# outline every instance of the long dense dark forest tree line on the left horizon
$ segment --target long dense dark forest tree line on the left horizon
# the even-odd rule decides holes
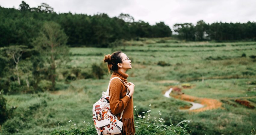
[[[30,7],[22,1],[19,9],[0,7],[0,46],[29,45],[38,36],[45,21],[58,23],[68,36],[70,46],[108,47],[116,40],[139,37],[169,37],[172,34],[164,22],[150,25],[142,20],[121,13],[109,17],[106,13],[93,16],[86,14],[59,13],[46,3]]]

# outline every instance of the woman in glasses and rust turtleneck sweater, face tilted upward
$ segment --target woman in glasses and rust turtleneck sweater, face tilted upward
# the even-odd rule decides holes
[[[105,55],[104,62],[108,63],[108,73],[112,73],[111,78],[115,78],[110,82],[109,95],[110,95],[110,110],[114,115],[120,119],[121,112],[123,111],[122,122],[123,128],[120,135],[133,135],[135,133],[133,122],[133,92],[134,84],[132,82],[127,83],[126,70],[131,69],[131,60],[121,51],[116,51],[111,55]],[[126,95],[127,88],[129,94]]]

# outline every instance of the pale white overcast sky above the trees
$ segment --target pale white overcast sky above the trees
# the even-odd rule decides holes
[[[163,21],[173,27],[175,23],[204,20],[213,22],[256,22],[256,0],[24,0],[30,7],[42,2],[57,13],[107,13],[118,16],[130,14],[135,21],[143,20],[154,25]],[[2,7],[15,7],[21,0],[1,0]]]

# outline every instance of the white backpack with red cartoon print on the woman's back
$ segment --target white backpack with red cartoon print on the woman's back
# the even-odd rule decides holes
[[[113,77],[112,79],[114,78],[120,79],[119,77]],[[110,110],[109,99],[111,97],[109,96],[109,86],[111,80],[109,81],[107,91],[102,92],[102,97],[95,104],[93,104],[92,107],[92,119],[98,135],[120,134],[123,128],[123,122],[121,122],[121,120],[124,110],[121,113],[120,121]],[[123,80],[121,81],[123,82]],[[127,94],[128,89],[126,95]]]

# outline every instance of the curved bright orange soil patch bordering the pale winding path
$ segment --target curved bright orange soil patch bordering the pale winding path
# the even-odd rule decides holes
[[[206,110],[212,110],[212,109],[217,109],[221,107],[221,102],[216,100],[216,99],[211,99],[211,98],[198,98],[190,95],[172,95],[174,98],[182,99],[185,101],[199,101],[200,104],[203,104],[205,107],[196,109],[196,110],[190,110],[191,112],[202,112]]]

